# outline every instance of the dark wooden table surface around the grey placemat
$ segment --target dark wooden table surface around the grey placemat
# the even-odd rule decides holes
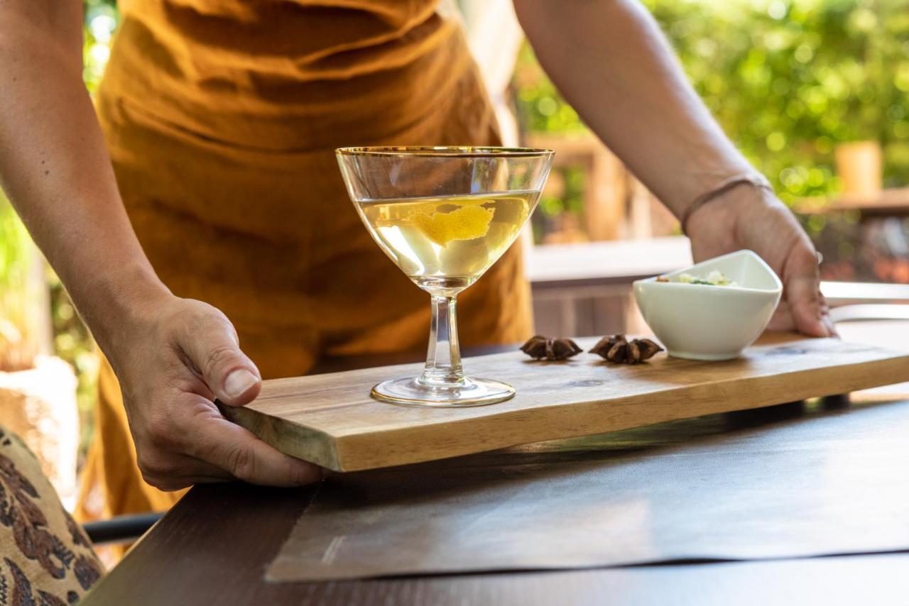
[[[892,326],[888,324],[888,327]],[[870,326],[869,326],[870,327]],[[902,339],[909,327],[888,328]],[[872,334],[867,330],[850,332]],[[902,335],[902,336],[900,336]],[[331,368],[331,364],[325,366]],[[842,405],[842,402],[833,402]],[[703,417],[681,432],[734,432],[784,422],[801,404]],[[664,432],[672,433],[672,432]],[[678,433],[678,432],[676,432]],[[673,439],[684,439],[684,435]],[[664,438],[665,439],[665,438]],[[676,562],[582,571],[524,571],[275,583],[265,568],[312,489],[196,486],[82,602],[144,604],[904,604],[909,552],[748,562]],[[554,529],[557,531],[557,529]],[[835,529],[832,529],[835,531]]]

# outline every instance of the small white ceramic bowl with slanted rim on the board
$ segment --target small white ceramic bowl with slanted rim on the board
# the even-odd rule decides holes
[[[669,355],[691,360],[729,360],[764,331],[774,314],[783,283],[767,263],[751,251],[724,254],[680,273],[705,277],[719,270],[737,286],[657,282],[634,283],[634,299],[644,320]]]

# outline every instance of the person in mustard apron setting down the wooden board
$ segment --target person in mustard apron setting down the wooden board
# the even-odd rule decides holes
[[[831,334],[812,243],[644,8],[514,6],[565,98],[684,218],[694,258],[753,249],[784,281],[774,327]],[[121,7],[93,108],[81,3],[0,4],[2,184],[109,361],[82,513],[164,509],[167,491],[196,482],[315,482],[321,470],[225,421],[213,401],[250,402],[263,377],[305,373],[320,356],[425,343],[423,293],[370,241],[333,152],[499,143],[454,10],[440,0]],[[460,306],[465,344],[528,337],[519,247]],[[93,510],[99,494],[107,504]]]

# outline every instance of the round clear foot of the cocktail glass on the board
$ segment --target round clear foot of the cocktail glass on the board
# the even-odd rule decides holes
[[[469,379],[452,386],[427,385],[416,378],[392,379],[373,388],[382,402],[429,408],[464,408],[504,402],[514,396],[514,387],[491,379]]]

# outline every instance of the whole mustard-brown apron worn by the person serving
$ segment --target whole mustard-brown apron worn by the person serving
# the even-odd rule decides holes
[[[345,193],[346,145],[499,144],[457,20],[437,0],[121,0],[97,110],[126,211],[178,296],[234,323],[264,378],[322,355],[422,351],[429,300]],[[514,245],[460,297],[464,345],[532,330]],[[82,520],[165,510],[103,364]]]

